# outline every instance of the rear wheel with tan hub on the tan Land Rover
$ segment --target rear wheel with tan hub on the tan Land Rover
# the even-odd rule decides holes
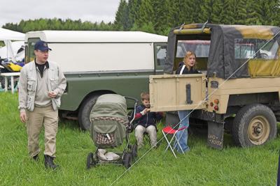
[[[276,137],[276,118],[269,107],[251,104],[243,107],[232,125],[232,137],[241,147],[265,144]]]

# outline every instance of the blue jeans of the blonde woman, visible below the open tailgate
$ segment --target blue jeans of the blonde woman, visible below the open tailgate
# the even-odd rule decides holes
[[[188,125],[189,125],[189,118],[190,118],[190,110],[184,110],[184,111],[178,111],[178,115],[180,118],[180,125],[179,128],[181,127],[187,127],[185,130],[181,130],[177,132],[176,137],[177,139],[180,138],[179,144],[181,148],[183,149],[183,152],[186,152],[190,150],[188,147]],[[174,148],[179,152],[183,153],[179,145],[175,142]]]

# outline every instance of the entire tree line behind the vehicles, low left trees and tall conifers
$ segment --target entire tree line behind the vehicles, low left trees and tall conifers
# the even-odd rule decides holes
[[[38,19],[3,28],[38,30],[147,31],[167,35],[183,23],[280,25],[280,0],[120,0],[113,23]]]

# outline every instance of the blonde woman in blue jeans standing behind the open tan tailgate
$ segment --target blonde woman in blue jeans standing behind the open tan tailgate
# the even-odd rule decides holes
[[[184,58],[183,63],[179,65],[179,68],[176,70],[176,75],[186,75],[186,74],[198,74],[198,72],[195,69],[195,61],[196,56],[194,52],[188,51],[186,52],[186,56]],[[178,144],[174,144],[174,148],[179,153],[185,153],[186,151],[190,150],[188,147],[188,126],[189,126],[189,118],[190,118],[190,110],[182,110],[178,111],[178,115],[180,118],[180,125],[181,127],[186,127],[185,130],[181,130],[176,134],[177,139],[179,139],[179,144],[181,148],[183,149],[183,152],[181,148],[178,146]]]

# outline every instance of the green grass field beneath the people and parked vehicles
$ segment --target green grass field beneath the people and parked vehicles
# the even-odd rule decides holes
[[[27,155],[25,124],[20,123],[18,95],[0,93],[0,185],[275,185],[280,146],[280,125],[274,141],[255,148],[237,148],[229,134],[225,148],[207,147],[204,133],[190,135],[190,152],[175,159],[166,146],[147,152],[125,172],[124,166],[104,165],[85,169],[87,153],[94,152],[89,132],[74,122],[59,123],[57,133],[57,171],[45,170],[42,148],[39,162]],[[160,125],[159,127],[162,127]],[[162,137],[158,132],[158,139]],[[134,141],[134,133],[132,134]]]

